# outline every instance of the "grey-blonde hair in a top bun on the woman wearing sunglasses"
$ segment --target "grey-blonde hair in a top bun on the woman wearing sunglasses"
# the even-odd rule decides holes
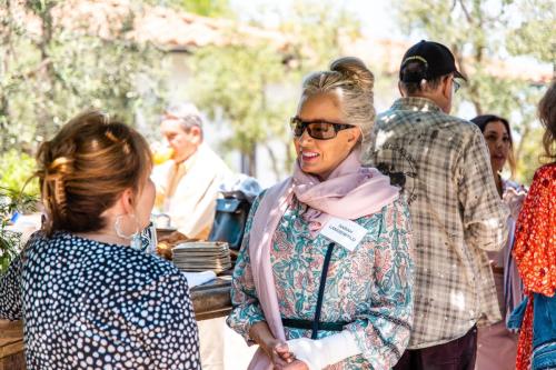
[[[374,84],[375,76],[360,59],[345,57],[332,61],[330,70],[307,76],[301,97],[334,94],[346,117],[344,123],[357,126],[366,141],[375,121]]]

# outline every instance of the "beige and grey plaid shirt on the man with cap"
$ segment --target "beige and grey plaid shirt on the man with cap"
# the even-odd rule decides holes
[[[463,337],[502,319],[485,251],[504,247],[507,207],[483,133],[433,101],[403,98],[377,118],[364,162],[404,189],[415,240],[410,349]]]

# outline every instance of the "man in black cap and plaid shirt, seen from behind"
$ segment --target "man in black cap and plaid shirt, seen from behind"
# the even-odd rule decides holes
[[[445,46],[420,41],[399,70],[403,98],[377,117],[364,161],[409,204],[416,264],[414,324],[394,368],[473,370],[476,326],[500,320],[486,251],[503,248],[507,207],[473,123],[449,116],[458,79]]]

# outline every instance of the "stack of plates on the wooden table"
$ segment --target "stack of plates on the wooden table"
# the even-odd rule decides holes
[[[172,250],[173,263],[181,271],[207,271],[220,273],[231,269],[230,250],[227,242],[188,241]]]

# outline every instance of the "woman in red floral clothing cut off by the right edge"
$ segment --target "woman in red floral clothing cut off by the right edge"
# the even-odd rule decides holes
[[[535,172],[517,220],[514,257],[528,298],[517,349],[518,370],[556,369],[556,82],[540,100],[538,112],[550,163]]]

